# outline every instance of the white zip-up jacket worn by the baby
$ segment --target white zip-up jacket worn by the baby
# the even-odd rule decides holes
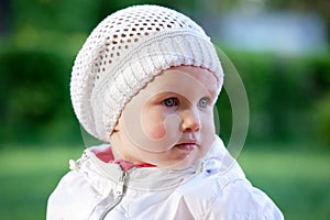
[[[103,147],[103,146],[97,146]],[[91,150],[75,162],[47,205],[47,220],[280,220],[282,212],[245,178],[217,138],[211,151],[184,170],[123,172]]]

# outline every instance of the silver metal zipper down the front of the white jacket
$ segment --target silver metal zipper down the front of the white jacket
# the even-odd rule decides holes
[[[114,207],[117,207],[121,202],[121,200],[122,200],[122,198],[123,198],[123,196],[125,194],[129,174],[133,169],[135,169],[135,168],[133,167],[129,172],[122,172],[122,175],[119,177],[117,186],[116,186],[116,189],[114,189],[116,199],[114,199],[114,201],[111,205],[109,205],[109,206],[106,207],[105,211],[100,216],[100,220],[105,220],[105,218],[108,216],[108,213],[111,210],[113,210]]]

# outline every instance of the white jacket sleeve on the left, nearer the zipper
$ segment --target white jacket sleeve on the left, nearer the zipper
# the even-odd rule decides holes
[[[47,202],[47,220],[89,219],[98,200],[82,174],[72,170],[59,182]]]

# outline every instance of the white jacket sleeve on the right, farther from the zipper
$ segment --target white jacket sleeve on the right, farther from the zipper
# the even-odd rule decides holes
[[[230,182],[209,207],[208,220],[283,220],[284,217],[266,194],[248,179]]]

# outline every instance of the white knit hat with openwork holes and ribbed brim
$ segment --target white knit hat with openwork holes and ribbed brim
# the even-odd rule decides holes
[[[130,7],[106,18],[78,53],[70,96],[86,131],[109,142],[130,99],[162,70],[191,65],[223,73],[204,30],[189,18],[158,6]]]

